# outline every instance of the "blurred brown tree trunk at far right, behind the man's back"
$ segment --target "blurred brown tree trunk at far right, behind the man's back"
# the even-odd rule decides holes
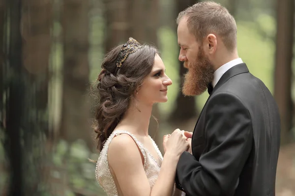
[[[281,116],[281,143],[290,142],[292,128],[291,81],[294,37],[294,0],[277,0],[274,98]]]

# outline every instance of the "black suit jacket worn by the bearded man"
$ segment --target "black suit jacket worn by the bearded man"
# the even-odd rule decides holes
[[[177,164],[187,196],[274,196],[280,117],[265,84],[238,64],[222,75],[199,116],[192,152]]]

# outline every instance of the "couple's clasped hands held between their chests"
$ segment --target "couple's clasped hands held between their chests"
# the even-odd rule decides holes
[[[183,151],[187,151],[192,154],[192,132],[176,129],[172,134],[163,136],[164,152],[167,150],[176,151],[182,154]]]

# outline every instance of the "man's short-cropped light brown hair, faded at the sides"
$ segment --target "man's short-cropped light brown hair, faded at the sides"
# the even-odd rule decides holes
[[[198,42],[202,43],[208,34],[213,33],[221,37],[229,51],[236,49],[236,21],[225,7],[216,2],[203,1],[181,11],[177,25],[183,17]]]

